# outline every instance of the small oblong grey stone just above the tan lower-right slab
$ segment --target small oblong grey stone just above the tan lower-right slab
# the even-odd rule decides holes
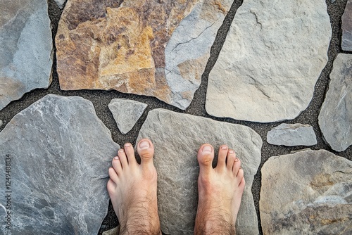
[[[267,141],[269,144],[284,146],[312,146],[317,144],[313,127],[300,123],[282,123],[268,132]]]

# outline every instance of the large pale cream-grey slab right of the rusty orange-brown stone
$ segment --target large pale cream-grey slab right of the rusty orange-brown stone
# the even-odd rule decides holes
[[[296,118],[327,63],[325,0],[244,0],[210,71],[210,115],[252,122]]]

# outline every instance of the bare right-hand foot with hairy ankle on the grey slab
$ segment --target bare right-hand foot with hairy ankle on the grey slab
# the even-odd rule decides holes
[[[236,153],[220,146],[213,168],[214,149],[203,144],[198,151],[199,201],[194,234],[235,234],[234,224],[244,191],[244,172]]]

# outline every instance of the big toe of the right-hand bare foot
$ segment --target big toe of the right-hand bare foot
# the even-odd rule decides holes
[[[210,144],[203,144],[197,155],[200,174],[210,174],[213,170],[214,148]]]

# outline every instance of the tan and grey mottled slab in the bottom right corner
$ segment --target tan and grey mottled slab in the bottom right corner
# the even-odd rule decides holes
[[[325,150],[269,158],[262,170],[263,234],[351,234],[352,162]]]

